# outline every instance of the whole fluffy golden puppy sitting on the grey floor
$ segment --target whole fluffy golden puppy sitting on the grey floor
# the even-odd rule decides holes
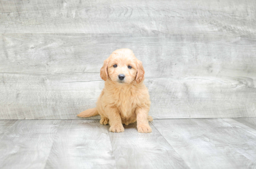
[[[137,121],[139,133],[152,132],[148,122],[150,98],[143,84],[144,68],[130,49],[115,50],[100,70],[105,87],[98,98],[96,108],[81,112],[79,117],[100,115],[101,124],[110,124],[110,132],[124,132],[123,124]],[[122,124],[123,123],[123,124]]]

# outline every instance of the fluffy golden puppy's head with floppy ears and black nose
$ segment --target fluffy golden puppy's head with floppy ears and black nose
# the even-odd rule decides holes
[[[144,80],[144,68],[130,49],[115,50],[104,61],[100,71],[101,78],[108,78],[119,85],[140,83]]]

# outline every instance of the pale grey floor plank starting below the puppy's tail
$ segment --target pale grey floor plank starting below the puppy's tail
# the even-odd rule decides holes
[[[45,168],[116,168],[107,127],[99,120],[62,120]]]

